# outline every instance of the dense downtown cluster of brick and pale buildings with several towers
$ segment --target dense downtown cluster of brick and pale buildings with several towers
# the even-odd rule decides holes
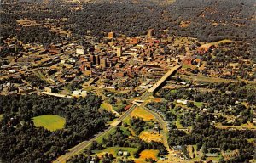
[[[152,86],[152,79],[162,76],[177,58],[162,55],[162,44],[169,38],[155,39],[154,30],[149,30],[143,37],[115,37],[113,32],[102,42],[95,42],[95,37],[85,37],[90,44],[81,42],[62,42],[44,48],[39,44],[23,44],[17,39],[6,41],[9,47],[19,51],[11,58],[9,65],[1,66],[2,79],[17,78],[22,82],[9,87],[24,86],[20,89],[6,89],[3,93],[26,93],[32,90],[53,92],[68,83],[79,83],[83,87],[105,87],[114,90],[133,90]],[[169,40],[169,41],[168,41]],[[47,84],[31,87],[27,77],[37,76]],[[26,84],[25,84],[26,83]],[[26,87],[25,87],[26,85]],[[1,88],[7,87],[1,85]],[[27,88],[27,89],[26,89]]]

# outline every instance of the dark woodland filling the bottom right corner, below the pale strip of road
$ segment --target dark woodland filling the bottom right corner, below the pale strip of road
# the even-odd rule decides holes
[[[198,149],[202,148],[203,154],[238,149],[240,155],[227,162],[247,162],[253,159],[254,154],[253,143],[248,143],[247,138],[254,138],[253,131],[222,130],[211,126],[206,121],[201,121],[193,126],[189,134],[171,130],[168,142],[170,145],[182,146],[196,144]]]

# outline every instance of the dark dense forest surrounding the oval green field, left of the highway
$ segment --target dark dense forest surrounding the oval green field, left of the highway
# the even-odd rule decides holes
[[[113,115],[98,109],[101,98],[53,98],[38,95],[0,96],[0,158],[7,162],[50,162],[67,149],[102,131]],[[38,115],[60,115],[65,128],[50,132],[35,127]]]

